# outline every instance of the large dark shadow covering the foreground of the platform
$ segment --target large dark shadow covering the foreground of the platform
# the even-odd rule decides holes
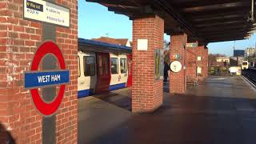
[[[175,144],[241,144],[256,138],[256,100],[247,98],[166,96],[161,109],[152,114],[128,114],[110,129],[102,130],[85,122],[86,134],[102,130],[84,143],[175,143]],[[122,118],[101,117],[105,124]],[[91,138],[91,137],[90,137]]]

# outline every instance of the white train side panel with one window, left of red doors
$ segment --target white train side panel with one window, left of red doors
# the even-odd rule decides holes
[[[78,53],[78,98],[94,94],[96,75],[96,55],[94,53]]]

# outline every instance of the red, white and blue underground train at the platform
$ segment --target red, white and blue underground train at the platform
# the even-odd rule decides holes
[[[78,98],[131,86],[131,48],[78,39]]]

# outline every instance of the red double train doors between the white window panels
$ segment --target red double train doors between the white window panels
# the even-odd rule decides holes
[[[97,86],[96,93],[109,91],[110,87],[110,54],[97,53]]]

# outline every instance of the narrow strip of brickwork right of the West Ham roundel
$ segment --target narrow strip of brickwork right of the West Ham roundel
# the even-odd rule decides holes
[[[70,8],[70,29],[57,27],[57,43],[62,47],[66,68],[70,70],[70,85],[57,113],[57,143],[77,143],[78,137],[78,1],[57,0]]]

